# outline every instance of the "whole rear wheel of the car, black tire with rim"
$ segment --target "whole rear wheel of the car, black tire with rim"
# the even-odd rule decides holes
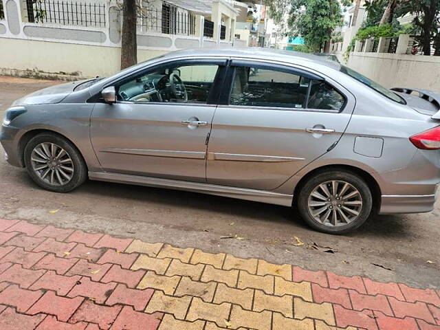
[[[329,170],[311,177],[300,188],[296,201],[304,221],[328,234],[359,228],[369,219],[373,206],[366,181],[346,170]]]

